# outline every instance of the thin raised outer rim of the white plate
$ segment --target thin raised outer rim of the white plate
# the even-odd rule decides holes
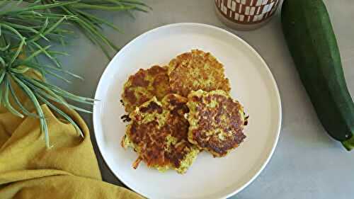
[[[154,33],[160,29],[164,29],[164,28],[176,28],[178,26],[196,26],[196,27],[201,27],[201,28],[210,28],[210,29],[214,29],[214,30],[217,30],[217,31],[221,31],[223,33],[226,33],[227,35],[230,35],[232,36],[234,39],[236,40],[239,40],[242,44],[244,44],[246,47],[249,48],[249,50],[251,50],[251,52],[253,52],[254,55],[256,55],[256,57],[258,57],[258,59],[261,60],[261,62],[265,65],[265,71],[267,72],[268,76],[270,76],[270,81],[271,83],[273,84],[273,88],[275,89],[275,98],[276,98],[276,105],[277,105],[277,108],[278,108],[278,115],[279,115],[279,118],[278,118],[278,123],[277,123],[277,132],[276,132],[276,137],[275,137],[275,142],[273,142],[273,146],[272,146],[272,149],[270,151],[270,153],[268,154],[268,157],[267,159],[263,162],[261,168],[256,172],[256,174],[247,182],[247,183],[244,183],[243,186],[241,186],[240,188],[236,188],[235,191],[233,191],[232,193],[226,193],[225,195],[222,196],[222,198],[229,198],[229,197],[232,197],[233,195],[236,195],[237,193],[239,193],[240,191],[244,190],[244,188],[246,188],[247,186],[249,186],[258,176],[259,174],[261,174],[261,172],[265,169],[265,166],[268,165],[270,159],[273,157],[273,154],[275,152],[275,148],[277,147],[278,145],[278,141],[279,141],[279,137],[280,137],[280,131],[281,131],[281,126],[282,126],[282,101],[281,101],[281,98],[280,98],[280,92],[279,92],[279,88],[278,88],[278,84],[277,82],[275,81],[275,78],[273,76],[273,73],[270,71],[270,68],[268,67],[268,64],[265,62],[265,60],[263,59],[263,57],[261,57],[261,55],[259,55],[259,53],[251,46],[249,45],[248,42],[246,42],[245,40],[243,40],[242,38],[240,38],[238,35],[235,35],[234,33],[231,33],[229,30],[225,30],[223,28],[219,28],[215,25],[209,25],[209,24],[205,24],[205,23],[170,23],[170,24],[167,24],[167,25],[161,25],[159,27],[156,27],[156,28],[152,28],[151,30],[147,30],[146,32],[138,35],[136,38],[130,40],[130,42],[127,42],[126,45],[124,45],[120,51],[118,51],[114,57],[110,60],[110,62],[107,64],[107,67],[105,67],[105,69],[103,70],[103,73],[101,74],[101,77],[98,81],[98,84],[96,86],[96,91],[95,91],[95,97],[94,98],[97,98],[99,93],[101,93],[102,91],[102,85],[103,84],[102,82],[102,79],[103,79],[103,76],[106,75],[106,73],[108,73],[108,68],[110,67],[111,63],[113,62],[114,59],[116,59],[116,57],[118,57],[121,53],[123,53],[123,50],[126,48],[126,47],[129,47],[130,45],[132,45],[133,42],[135,42],[136,40],[139,40],[141,38],[144,38],[145,35],[149,35],[151,33]],[[106,161],[106,158],[105,155],[103,154],[102,152],[102,149],[101,149],[101,144],[98,143],[97,141],[97,135],[96,135],[96,131],[98,132],[98,110],[99,110],[99,107],[101,106],[98,106],[96,103],[93,104],[93,113],[92,113],[92,122],[93,122],[93,135],[95,137],[95,141],[96,141],[96,144],[97,144],[97,147],[98,147],[98,152],[101,154],[101,157],[103,159],[103,162],[104,164],[108,167],[109,171],[115,176],[115,178],[118,178],[118,180],[124,185],[126,186],[127,188],[130,189],[130,191],[134,191],[136,193],[138,193],[139,195],[143,195],[144,197],[147,197],[146,195],[144,195],[143,193],[141,193],[139,190],[135,190],[133,188],[131,188],[127,183],[125,183],[125,181],[123,181],[121,178],[119,178],[119,175],[118,174],[115,174],[115,172],[110,169],[110,166],[108,165],[107,161]],[[103,132],[101,132],[103,133]]]

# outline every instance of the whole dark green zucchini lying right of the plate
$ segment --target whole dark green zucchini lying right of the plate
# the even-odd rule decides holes
[[[324,2],[285,0],[282,30],[302,84],[326,131],[354,149],[354,103]]]

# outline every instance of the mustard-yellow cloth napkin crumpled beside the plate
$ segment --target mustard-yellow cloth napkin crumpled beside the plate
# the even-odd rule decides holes
[[[30,107],[28,98],[18,93],[25,106]],[[0,107],[1,199],[142,198],[101,181],[89,129],[79,114],[64,109],[81,127],[84,138],[50,108],[42,108],[50,131],[50,149],[45,147],[38,119],[18,118]]]

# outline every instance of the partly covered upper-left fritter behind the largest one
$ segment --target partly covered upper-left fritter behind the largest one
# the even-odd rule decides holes
[[[167,93],[170,93],[170,87],[166,67],[154,66],[149,69],[139,69],[125,82],[122,103],[125,111],[131,113],[137,106],[149,101],[153,96],[161,100]]]

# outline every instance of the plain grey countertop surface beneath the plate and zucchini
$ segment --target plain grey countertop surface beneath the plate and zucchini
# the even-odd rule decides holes
[[[123,47],[147,30],[169,23],[207,23],[225,26],[215,16],[213,0],[147,0],[150,13],[104,13],[124,33],[105,30],[108,38]],[[354,93],[354,1],[326,0],[341,50],[348,88]],[[234,198],[354,198],[354,155],[332,140],[316,118],[312,104],[299,80],[285,45],[277,15],[263,28],[251,32],[233,31],[253,46],[268,63],[278,82],[282,99],[282,131],[278,147],[264,171],[250,186]],[[82,96],[93,97],[108,60],[98,47],[79,34],[67,49],[72,55],[62,59],[64,66],[85,78],[73,84],[57,84]],[[121,185],[105,165],[93,137],[91,115],[83,115],[91,130],[91,139],[103,180]]]

